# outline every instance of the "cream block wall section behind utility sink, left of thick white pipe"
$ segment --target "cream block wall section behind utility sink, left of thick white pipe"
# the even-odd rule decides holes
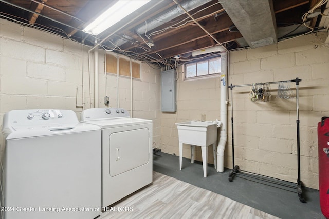
[[[184,81],[184,69],[177,69],[177,112],[162,113],[161,149],[162,152],[179,156],[178,130],[175,123],[190,120],[220,120],[220,75],[211,78],[189,79]],[[184,144],[183,157],[191,158],[190,145]],[[195,147],[195,160],[202,161],[201,148]],[[213,151],[208,150],[208,163],[213,164]]]

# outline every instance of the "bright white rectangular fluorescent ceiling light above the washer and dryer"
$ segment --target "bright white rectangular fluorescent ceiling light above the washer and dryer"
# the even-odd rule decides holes
[[[83,31],[98,35],[148,2],[150,0],[119,0],[97,17],[95,21],[90,23]]]

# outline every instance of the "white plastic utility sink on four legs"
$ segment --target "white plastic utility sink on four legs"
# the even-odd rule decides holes
[[[183,144],[191,145],[191,163],[194,163],[194,146],[200,146],[202,152],[202,162],[204,177],[207,177],[208,146],[212,145],[214,154],[214,165],[216,168],[216,141],[217,124],[211,121],[187,121],[175,123],[178,129],[179,140],[179,169],[182,166]]]

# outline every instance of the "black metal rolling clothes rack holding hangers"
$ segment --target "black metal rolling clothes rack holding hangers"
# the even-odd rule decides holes
[[[297,170],[298,170],[298,178],[297,178],[297,193],[298,193],[298,197],[299,197],[299,201],[305,203],[305,199],[303,198],[303,191],[302,191],[302,182],[300,180],[300,136],[299,136],[299,103],[298,103],[298,85],[299,82],[301,82],[302,79],[299,79],[298,77],[296,79],[293,80],[287,80],[287,81],[278,81],[278,82],[267,82],[266,84],[279,84],[279,83],[284,83],[284,82],[295,82],[296,83],[296,113],[297,113],[297,120],[296,120],[296,124],[297,124]],[[261,85],[261,84],[265,84],[265,83],[257,83],[255,85]],[[250,84],[244,84],[244,85],[230,85],[228,86],[231,89],[231,122],[232,122],[232,163],[233,163],[233,169],[232,171],[229,173],[229,181],[232,182],[232,178],[235,174],[240,174],[240,175],[245,175],[245,176],[249,176],[251,178],[257,178],[258,180],[261,181],[265,181],[265,182],[271,182],[277,185],[281,185],[281,186],[286,186],[286,187],[291,187],[291,185],[288,185],[288,183],[291,184],[291,182],[287,182],[284,180],[280,180],[278,178],[272,178],[272,177],[268,177],[265,175],[261,175],[261,174],[256,174],[256,173],[251,173],[251,172],[247,172],[247,171],[243,171],[239,169],[239,166],[234,164],[234,127],[233,127],[233,88],[235,87],[246,87],[246,86],[250,86]],[[294,184],[294,183],[293,183]]]

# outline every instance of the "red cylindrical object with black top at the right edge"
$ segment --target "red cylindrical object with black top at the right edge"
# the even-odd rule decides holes
[[[329,117],[318,123],[319,193],[322,214],[329,219]]]

